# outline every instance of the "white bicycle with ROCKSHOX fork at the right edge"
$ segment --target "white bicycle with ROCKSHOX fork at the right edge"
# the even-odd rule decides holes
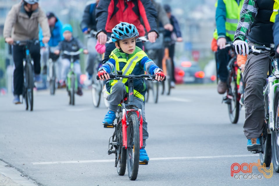
[[[272,159],[274,170],[279,172],[279,66],[274,55],[274,44],[271,44],[270,48],[252,45],[249,49],[249,52],[255,55],[270,51],[270,54],[264,53],[270,58],[270,65],[268,82],[263,92],[265,120],[261,137],[262,150],[253,153],[260,153],[260,162],[267,167]]]

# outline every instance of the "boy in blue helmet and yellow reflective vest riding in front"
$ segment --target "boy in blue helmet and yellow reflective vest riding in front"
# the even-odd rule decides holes
[[[156,80],[162,81],[165,78],[162,70],[149,59],[144,51],[136,47],[136,37],[139,35],[137,28],[133,24],[121,22],[112,28],[111,38],[115,42],[115,49],[110,54],[109,60],[99,69],[98,76],[100,80],[108,80],[109,73],[122,71],[123,75],[140,75],[147,71],[149,74],[155,74]],[[127,93],[128,82],[123,80],[110,80],[106,83],[106,88],[110,95],[108,96],[108,113],[103,119],[103,124],[112,124],[115,120],[115,112],[118,104],[122,100],[122,95]],[[144,94],[146,92],[146,83],[144,80],[134,82],[135,103],[141,105],[143,119],[143,146],[146,146],[148,138],[147,122],[144,113]],[[149,157],[144,148],[140,149],[140,161],[149,161]]]

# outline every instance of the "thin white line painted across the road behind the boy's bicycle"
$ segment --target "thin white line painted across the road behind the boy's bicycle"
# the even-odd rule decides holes
[[[153,160],[205,159],[205,158],[238,158],[238,157],[250,157],[250,156],[258,156],[258,154],[150,158],[150,161],[153,161]],[[58,161],[58,162],[32,162],[32,164],[33,165],[43,165],[43,164],[64,164],[64,163],[101,163],[101,162],[114,162],[114,161],[115,160],[80,160],[80,161]]]

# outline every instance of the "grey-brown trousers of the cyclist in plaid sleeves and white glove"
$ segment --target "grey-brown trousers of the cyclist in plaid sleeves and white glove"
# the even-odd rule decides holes
[[[251,43],[249,43],[251,46]],[[265,51],[269,55],[268,51]],[[267,82],[269,58],[265,54],[249,54],[245,63],[243,81],[246,84],[244,92],[245,122],[244,135],[247,139],[262,136],[264,122],[263,87]]]

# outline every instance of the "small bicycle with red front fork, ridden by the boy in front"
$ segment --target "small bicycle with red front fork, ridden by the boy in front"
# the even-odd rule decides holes
[[[104,128],[115,128],[113,135],[109,140],[108,154],[115,154],[115,167],[117,173],[123,176],[128,167],[128,176],[130,180],[137,179],[139,164],[148,164],[148,162],[140,162],[140,149],[143,147],[142,138],[142,116],[141,108],[134,102],[134,86],[133,81],[138,79],[155,80],[155,75],[148,74],[122,75],[122,71],[118,74],[109,74],[111,80],[120,80],[128,78],[128,97],[123,95],[123,103],[121,103],[121,112],[116,118],[116,124],[104,124]],[[97,76],[97,79],[99,77]]]

